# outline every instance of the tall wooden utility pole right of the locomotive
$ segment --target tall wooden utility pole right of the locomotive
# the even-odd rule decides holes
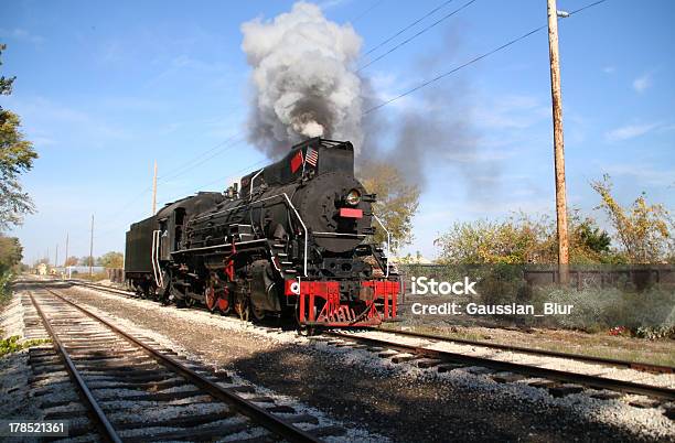
[[[567,236],[567,196],[565,191],[565,142],[562,140],[562,94],[560,91],[560,60],[558,54],[558,9],[556,0],[548,1],[548,54],[550,57],[550,96],[554,120],[554,152],[556,170],[556,218],[558,224],[558,272],[560,284],[569,283],[569,237]]]

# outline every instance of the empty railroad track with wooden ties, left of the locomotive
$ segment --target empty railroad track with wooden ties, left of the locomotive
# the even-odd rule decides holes
[[[54,396],[50,385],[63,390],[68,382],[78,391],[79,408],[63,409],[73,404],[63,392],[47,401],[52,412],[46,419],[73,423],[69,437],[318,442],[345,432],[278,406],[250,386],[236,386],[226,372],[214,374],[148,337],[121,331],[52,289],[32,291],[30,300],[39,316],[30,327],[42,323],[54,344],[53,350],[30,354],[33,382],[42,382],[36,395]],[[64,366],[67,376],[58,379]]]

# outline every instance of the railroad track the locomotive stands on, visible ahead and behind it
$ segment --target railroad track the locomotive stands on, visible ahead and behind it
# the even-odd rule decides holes
[[[126,291],[109,289],[100,285],[86,284],[96,290],[104,290],[111,293],[122,293]],[[124,295],[130,295],[126,292]],[[379,337],[367,336],[367,332],[325,332],[322,335],[335,339],[335,346],[351,346],[355,348],[373,349],[382,358],[392,359],[394,363],[408,363],[420,368],[439,371],[448,371],[457,368],[478,368],[478,372],[485,372],[489,377],[501,382],[511,382],[533,378],[533,386],[547,389],[554,396],[565,396],[581,392],[585,389],[606,390],[614,393],[633,393],[657,399],[661,402],[675,401],[675,390],[671,387],[654,386],[639,381],[630,381],[611,377],[603,377],[597,374],[586,374],[579,371],[561,370],[494,358],[501,353],[515,353],[534,357],[546,357],[555,361],[556,359],[574,360],[586,365],[593,365],[596,372],[602,372],[602,368],[626,368],[635,371],[672,375],[673,367],[662,365],[651,365],[644,363],[625,361],[619,359],[593,357],[588,355],[572,355],[557,353],[545,349],[523,348],[501,344],[491,344],[479,341],[463,338],[449,338],[438,335],[407,332],[378,329]],[[372,334],[369,334],[372,335]],[[386,335],[383,337],[382,335]],[[417,344],[401,343],[400,337],[418,339]],[[329,339],[330,339],[329,338]],[[315,338],[321,339],[321,338]],[[331,343],[331,342],[329,342]],[[457,344],[467,345],[480,349],[480,352],[449,352],[438,349],[436,344]],[[481,353],[489,350],[491,356],[481,356]],[[594,393],[598,398],[613,398],[613,393]],[[675,411],[668,409],[673,414]]]

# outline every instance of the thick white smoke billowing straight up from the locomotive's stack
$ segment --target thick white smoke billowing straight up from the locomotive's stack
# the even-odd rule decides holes
[[[362,85],[353,72],[361,37],[299,2],[271,21],[242,25],[253,67],[249,139],[271,156],[309,137],[363,142]]]

